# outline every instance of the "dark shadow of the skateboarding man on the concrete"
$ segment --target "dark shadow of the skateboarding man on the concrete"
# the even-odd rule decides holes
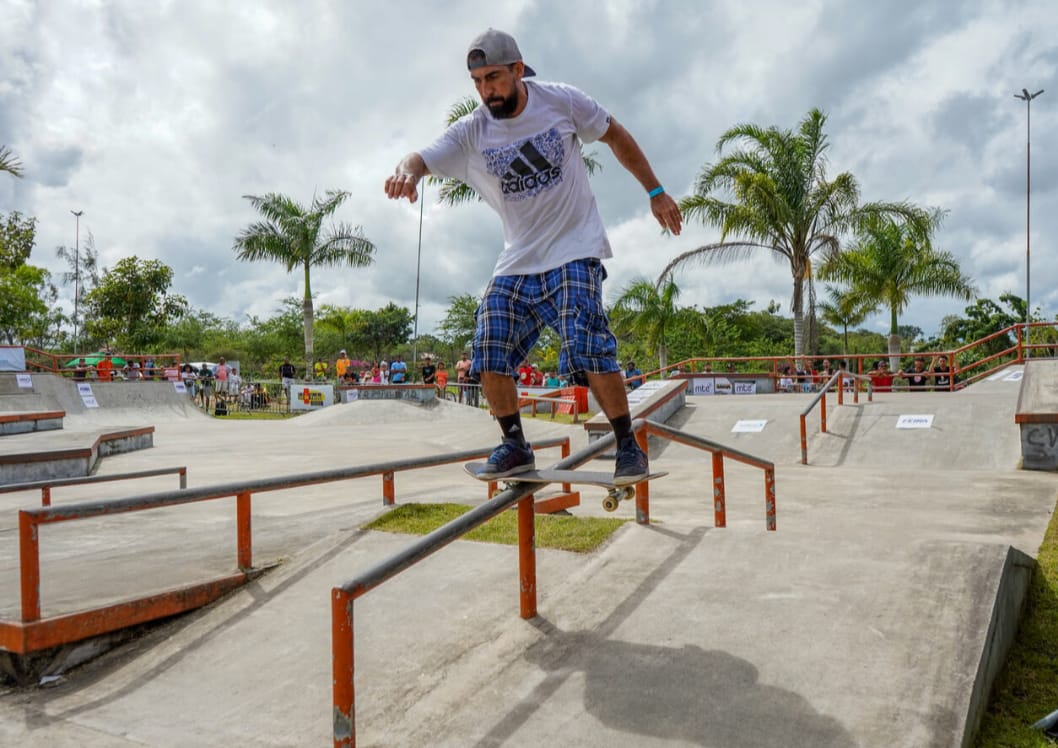
[[[547,711],[555,692],[576,688],[568,681],[577,673],[583,673],[585,712],[624,733],[726,748],[856,745],[838,720],[799,694],[760,683],[755,667],[726,652],[618,641],[537,622],[545,638],[526,659],[547,676],[479,746],[503,744],[533,713]]]

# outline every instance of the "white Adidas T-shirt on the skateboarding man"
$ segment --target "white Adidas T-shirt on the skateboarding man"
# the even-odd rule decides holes
[[[572,86],[526,80],[525,109],[496,120],[485,106],[420,151],[431,174],[473,187],[504,222],[495,275],[528,275],[584,257],[613,257],[588,185],[581,143],[609,114]]]

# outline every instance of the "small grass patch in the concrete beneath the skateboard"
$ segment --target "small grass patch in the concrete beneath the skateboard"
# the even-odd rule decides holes
[[[471,507],[462,504],[404,504],[386,512],[365,530],[403,532],[411,535],[425,535],[459,515]],[[587,553],[598,548],[627,519],[605,517],[574,517],[537,514],[536,547],[570,550]],[[468,541],[517,545],[518,518],[514,510],[495,516],[473,531],[463,535]]]

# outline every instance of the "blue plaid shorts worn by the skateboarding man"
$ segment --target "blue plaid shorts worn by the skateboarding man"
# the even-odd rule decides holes
[[[620,371],[602,304],[605,278],[594,258],[535,275],[494,277],[477,308],[472,371],[515,376],[545,326],[562,340],[559,373]]]

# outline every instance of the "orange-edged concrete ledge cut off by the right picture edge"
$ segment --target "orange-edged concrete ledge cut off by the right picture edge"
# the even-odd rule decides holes
[[[1021,466],[1058,470],[1058,361],[1028,361],[1014,422],[1021,431]]]

